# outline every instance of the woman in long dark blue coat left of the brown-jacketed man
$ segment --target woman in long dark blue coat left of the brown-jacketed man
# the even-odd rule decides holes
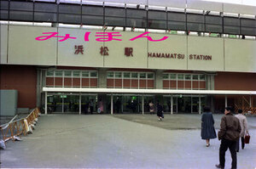
[[[201,115],[201,138],[207,142],[207,147],[210,146],[210,139],[217,138],[214,119],[209,107],[204,107],[204,113]]]

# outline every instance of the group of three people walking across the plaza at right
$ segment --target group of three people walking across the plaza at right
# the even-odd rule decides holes
[[[220,129],[218,131],[218,140],[221,140],[219,147],[219,164],[218,168],[224,168],[225,152],[230,149],[232,158],[232,169],[237,166],[236,152],[239,152],[239,144],[241,138],[241,149],[244,149],[244,137],[249,134],[247,127],[247,118],[242,115],[242,110],[238,110],[238,115],[233,115],[231,107],[226,107],[224,116],[221,118]],[[214,119],[209,107],[204,108],[204,113],[201,116],[201,138],[207,142],[207,147],[210,146],[210,139],[217,138]]]

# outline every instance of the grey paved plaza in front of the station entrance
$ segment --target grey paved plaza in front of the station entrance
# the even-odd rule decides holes
[[[251,143],[237,154],[239,169],[256,168],[256,117],[247,119]],[[1,168],[214,169],[220,142],[207,148],[200,127],[201,115],[42,115],[33,134],[1,150]]]

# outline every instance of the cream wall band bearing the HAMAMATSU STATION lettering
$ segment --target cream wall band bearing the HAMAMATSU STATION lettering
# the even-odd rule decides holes
[[[6,31],[6,27],[4,28]],[[58,32],[45,41],[36,37],[45,36],[45,32]],[[85,33],[90,35],[84,39]],[[97,68],[139,68],[155,70],[209,70],[256,72],[256,42],[253,40],[224,39],[217,37],[187,37],[168,34],[149,33],[132,40],[143,32],[117,31],[114,40],[102,42],[98,37],[102,33],[113,31],[91,31],[85,29],[67,29],[9,25],[8,51],[3,52],[3,63],[9,65],[61,65],[86,66]],[[153,40],[148,41],[146,36]],[[1,42],[7,42],[1,37]],[[4,44],[1,44],[5,48]],[[76,46],[83,46],[83,54],[75,54]],[[1,46],[1,47],[2,47]],[[125,54],[125,48],[131,48],[132,55]],[[102,54],[102,50],[106,54]],[[107,54],[108,53],[108,54]],[[7,55],[7,58],[5,56]],[[207,59],[206,59],[207,58]],[[209,59],[210,58],[210,59]]]

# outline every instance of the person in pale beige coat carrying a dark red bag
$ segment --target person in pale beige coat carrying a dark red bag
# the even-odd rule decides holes
[[[238,115],[235,115],[239,121],[241,126],[240,138],[241,138],[241,149],[244,149],[244,137],[245,133],[249,134],[248,125],[247,125],[247,117],[242,115],[242,110],[238,110]],[[236,142],[236,152],[239,152],[239,139]]]

